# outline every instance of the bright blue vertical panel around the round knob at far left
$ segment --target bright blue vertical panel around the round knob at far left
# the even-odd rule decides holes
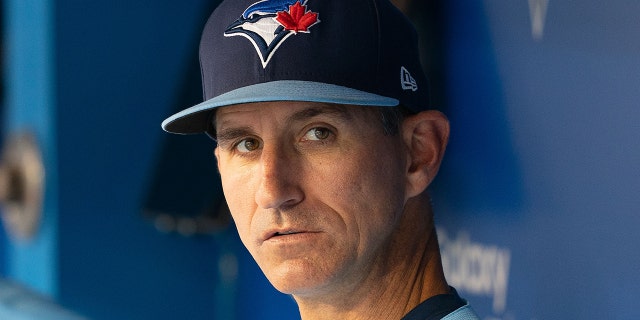
[[[42,165],[53,168],[57,164],[53,4],[5,1],[3,5],[3,137],[28,134],[39,146]],[[3,270],[53,295],[58,261],[56,172],[49,171],[46,180],[43,223],[29,241],[5,241],[8,259]]]

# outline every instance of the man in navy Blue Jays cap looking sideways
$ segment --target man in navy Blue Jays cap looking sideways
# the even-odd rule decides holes
[[[387,0],[226,0],[200,43],[209,134],[240,238],[302,319],[476,319],[443,275],[427,187],[449,134]]]

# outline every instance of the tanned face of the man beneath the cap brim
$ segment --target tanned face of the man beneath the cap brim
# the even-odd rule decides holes
[[[375,109],[250,103],[220,108],[215,121],[229,209],[278,290],[346,290],[379,269],[403,210],[407,160]]]

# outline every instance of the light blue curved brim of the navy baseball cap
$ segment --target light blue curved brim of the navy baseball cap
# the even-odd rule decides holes
[[[398,100],[334,84],[279,80],[238,88],[182,110],[162,122],[171,133],[202,133],[207,130],[212,109],[240,103],[265,101],[309,101],[360,106],[393,107]]]

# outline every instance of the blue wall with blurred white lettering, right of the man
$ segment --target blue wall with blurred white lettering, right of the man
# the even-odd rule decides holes
[[[450,280],[492,319],[640,318],[640,4],[446,10]]]

